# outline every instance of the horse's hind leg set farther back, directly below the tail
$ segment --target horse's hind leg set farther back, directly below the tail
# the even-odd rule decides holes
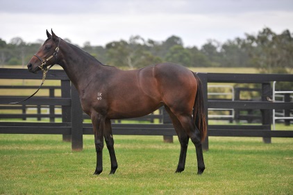
[[[205,164],[203,162],[203,149],[201,146],[201,133],[199,128],[197,128],[192,120],[191,115],[178,115],[178,120],[181,122],[185,133],[190,137],[192,143],[196,148],[196,158],[197,158],[197,167],[198,171],[197,174],[203,173],[205,169]]]

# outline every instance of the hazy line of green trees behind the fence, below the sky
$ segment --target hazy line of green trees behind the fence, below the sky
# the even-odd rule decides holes
[[[85,42],[81,49],[105,65],[129,69],[173,62],[185,67],[256,67],[262,73],[286,74],[291,73],[293,67],[292,35],[289,30],[277,34],[263,28],[256,35],[245,33],[244,38],[236,37],[223,44],[208,40],[201,48],[183,46],[183,40],[176,35],[162,42],[136,35],[106,46]],[[15,37],[6,43],[0,38],[0,66],[26,65],[43,42],[26,43],[21,37]]]

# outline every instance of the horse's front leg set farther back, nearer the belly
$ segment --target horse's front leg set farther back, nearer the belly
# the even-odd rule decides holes
[[[114,150],[114,139],[112,135],[112,127],[111,127],[110,119],[106,119],[104,136],[105,136],[105,141],[106,141],[106,145],[107,145],[107,148],[110,154],[110,160],[111,160],[110,174],[114,174],[116,169],[118,168],[118,164],[117,164],[115,150]]]

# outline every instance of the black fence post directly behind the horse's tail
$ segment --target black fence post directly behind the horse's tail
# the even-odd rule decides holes
[[[201,85],[203,90],[203,101],[204,109],[206,114],[206,125],[208,126],[208,74],[207,73],[198,73],[197,76],[201,79]],[[208,133],[206,139],[202,143],[203,151],[208,151]]]

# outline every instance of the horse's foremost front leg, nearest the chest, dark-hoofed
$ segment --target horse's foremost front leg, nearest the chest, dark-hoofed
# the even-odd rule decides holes
[[[94,175],[99,175],[103,171],[103,130],[105,127],[105,119],[99,114],[94,114],[91,118],[94,128],[94,144],[97,152],[97,167]]]

